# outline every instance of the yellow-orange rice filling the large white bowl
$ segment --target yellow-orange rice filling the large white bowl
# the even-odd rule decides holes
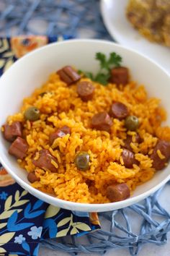
[[[12,121],[24,122],[24,137],[29,149],[27,157],[18,162],[28,172],[35,170],[40,177],[40,182],[35,182],[32,186],[63,200],[109,202],[106,188],[113,182],[126,182],[133,192],[138,184],[147,182],[155,173],[149,155],[158,138],[170,141],[170,128],[161,127],[161,122],[166,119],[166,112],[160,106],[160,100],[148,98],[143,85],[137,86],[135,82],[130,82],[118,90],[112,84],[104,87],[93,83],[96,88],[94,98],[83,102],[76,93],[76,85],[68,86],[59,79],[58,74],[51,74],[41,88],[24,99],[21,111],[8,118],[9,124]],[[40,97],[42,92],[49,93]],[[110,134],[90,128],[91,117],[99,111],[109,111],[113,101],[125,103],[130,114],[138,116],[138,133],[143,139],[140,145],[135,142],[135,132],[126,132],[124,120],[113,119]],[[36,106],[42,113],[40,120],[32,124],[24,121],[23,117],[24,111],[30,106]],[[50,148],[50,133],[65,125],[71,128],[71,135],[57,138]],[[140,162],[139,166],[134,164],[133,168],[125,168],[121,157],[123,140],[127,134],[133,136],[130,145],[135,158]],[[50,150],[58,159],[57,173],[44,171],[33,165],[32,156],[42,148]],[[90,155],[91,163],[87,171],[79,171],[74,164],[75,155],[79,151],[86,151]],[[158,155],[162,158],[160,153]],[[35,158],[38,158],[38,154]]]

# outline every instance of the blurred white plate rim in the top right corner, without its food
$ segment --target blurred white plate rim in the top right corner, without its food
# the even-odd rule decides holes
[[[149,42],[130,25],[125,16],[127,4],[128,0],[101,0],[102,17],[109,34],[123,46],[155,60],[170,73],[170,48]]]

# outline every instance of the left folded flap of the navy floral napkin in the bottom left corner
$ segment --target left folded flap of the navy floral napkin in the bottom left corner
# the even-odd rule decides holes
[[[1,170],[0,176],[6,182],[9,174]],[[17,183],[0,187],[0,203],[0,255],[37,255],[47,204]]]

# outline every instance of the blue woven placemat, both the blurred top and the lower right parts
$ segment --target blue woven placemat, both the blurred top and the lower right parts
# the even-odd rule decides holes
[[[102,22],[98,0],[6,0],[0,1],[0,36],[68,35],[76,38],[112,40]],[[138,255],[143,244],[162,245],[170,231],[170,216],[158,202],[161,189],[142,202],[128,208],[99,213],[107,228],[79,238],[48,239],[44,247],[77,255],[79,252],[98,252],[111,248],[127,248]],[[142,218],[138,232],[133,231],[133,218]],[[105,223],[104,221],[104,223]],[[107,226],[108,226],[107,225]],[[69,241],[69,242],[68,242]]]

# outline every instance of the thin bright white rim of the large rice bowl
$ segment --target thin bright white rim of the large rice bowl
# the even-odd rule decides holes
[[[117,48],[128,49],[128,51],[135,52],[136,54],[142,56],[143,58],[148,59],[148,61],[152,62],[153,65],[156,65],[159,69],[162,69],[164,72],[166,72],[166,70],[163,69],[159,64],[157,64],[155,61],[152,61],[151,59],[149,59],[145,55],[138,53],[138,51],[133,51],[130,48],[127,48],[125,46],[119,46],[116,43],[112,43],[112,42],[109,42],[107,40],[72,39],[72,40],[66,40],[66,41],[57,42],[57,44],[58,45],[59,44],[67,44],[67,43],[71,44],[71,43],[75,43],[75,42],[76,43],[81,43],[81,42],[83,42],[83,43],[84,42],[85,43],[93,43],[93,42],[95,42],[95,43],[104,43],[106,45],[110,45],[110,44],[116,45]],[[51,47],[51,46],[53,46],[55,44],[56,43],[50,43],[47,46],[43,46],[41,48],[38,48],[37,50],[32,51],[30,54],[27,54],[27,56],[31,56],[32,54],[35,54],[35,52],[37,52],[37,51],[43,51],[43,48],[48,48],[48,47]],[[19,62],[24,61],[24,58],[25,58],[25,56],[23,56],[21,59],[17,60],[15,65],[17,65]],[[9,69],[13,69],[13,67],[14,66],[10,67]],[[7,70],[5,72],[5,75],[8,74],[8,72],[9,72],[9,70]],[[166,74],[168,74],[168,73],[166,72]],[[1,77],[4,77],[4,74]],[[0,78],[0,80],[1,80],[1,78]],[[118,208],[126,207],[128,205],[132,205],[132,201],[133,201],[133,203],[136,203],[136,202],[139,202],[140,200],[143,200],[144,198],[148,197],[148,195],[151,195],[151,194],[153,194],[153,192],[156,192],[156,190],[158,190],[160,187],[162,187],[164,184],[166,184],[166,182],[168,182],[169,179],[170,179],[170,174],[169,174],[169,176],[167,176],[166,179],[164,179],[162,182],[157,184],[155,187],[149,189],[147,192],[144,192],[143,194],[137,195],[135,197],[130,197],[127,200],[123,200],[123,201],[120,201],[120,202],[109,202],[109,203],[104,203],[104,204],[86,204],[86,203],[79,203],[79,202],[71,202],[71,201],[61,200],[61,199],[58,199],[57,197],[53,197],[53,196],[48,195],[48,194],[46,194],[44,192],[41,192],[40,190],[37,190],[34,187],[32,187],[30,184],[27,184],[26,182],[24,182],[21,178],[19,178],[19,176],[17,176],[17,174],[14,174],[14,172],[12,171],[12,167],[5,163],[4,159],[1,158],[1,155],[0,155],[0,161],[1,161],[1,164],[4,166],[4,168],[6,168],[6,170],[9,171],[9,174],[11,174],[14,177],[14,179],[22,187],[24,187],[24,189],[26,189],[28,191],[31,191],[32,195],[40,197],[41,199],[43,197],[45,197],[45,202],[48,202],[48,201],[49,202],[57,202],[58,201],[58,203],[60,202],[60,205],[63,203],[64,205],[67,205],[68,208],[73,208],[74,205],[77,205],[77,206],[79,206],[81,208],[81,211],[84,211],[84,212],[86,212],[86,208],[91,208],[91,210],[90,210],[91,212],[92,211],[104,211],[104,208],[107,210],[107,208],[111,208],[111,205],[113,205],[113,204],[115,205],[115,208],[117,208],[117,209]]]

